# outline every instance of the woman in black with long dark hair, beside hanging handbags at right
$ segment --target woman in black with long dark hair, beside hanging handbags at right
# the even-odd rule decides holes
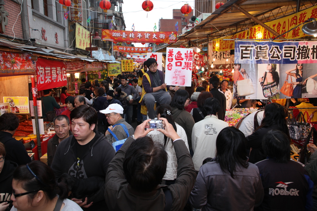
[[[251,135],[247,136],[247,149],[252,148],[249,156],[250,163],[256,163],[264,160],[266,155],[263,152],[262,140],[268,131],[277,129],[285,134],[288,134],[288,127],[286,124],[286,117],[288,109],[278,103],[270,103],[265,106],[264,118],[261,125]]]

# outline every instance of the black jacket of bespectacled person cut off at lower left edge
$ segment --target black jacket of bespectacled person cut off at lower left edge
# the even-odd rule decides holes
[[[10,196],[12,194],[12,174],[16,169],[18,164],[4,160],[3,169],[0,173],[0,203],[2,202],[10,202]],[[12,207],[12,203],[6,210],[10,210]]]

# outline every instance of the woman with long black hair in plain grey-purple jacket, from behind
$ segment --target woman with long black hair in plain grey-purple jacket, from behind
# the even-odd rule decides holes
[[[258,168],[248,163],[246,140],[235,127],[217,136],[216,157],[202,165],[189,202],[202,210],[253,210],[263,200]]]

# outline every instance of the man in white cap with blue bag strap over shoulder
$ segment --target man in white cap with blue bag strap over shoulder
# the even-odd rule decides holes
[[[126,120],[123,118],[123,108],[118,103],[110,104],[107,109],[99,111],[102,114],[106,115],[108,123],[111,125],[108,127],[116,136],[116,138],[109,132],[106,131],[105,138],[113,143],[117,140],[122,140],[128,138],[130,135],[134,134],[134,129],[129,125]],[[128,131],[129,134],[126,133]]]

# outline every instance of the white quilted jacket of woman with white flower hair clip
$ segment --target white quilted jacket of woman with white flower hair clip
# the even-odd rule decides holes
[[[185,142],[185,145],[189,151],[188,147],[188,141],[186,132],[183,129],[183,127],[179,126],[176,122],[176,128],[177,128],[177,134],[179,137]],[[155,142],[159,142],[164,145],[164,134],[153,130],[150,133],[147,134],[147,136],[151,137],[152,140]],[[167,138],[167,144],[165,146],[165,151],[167,152],[167,166],[166,166],[166,172],[163,177],[164,180],[174,180],[177,176],[177,158],[174,150],[174,146],[172,145],[172,140],[170,138]]]

